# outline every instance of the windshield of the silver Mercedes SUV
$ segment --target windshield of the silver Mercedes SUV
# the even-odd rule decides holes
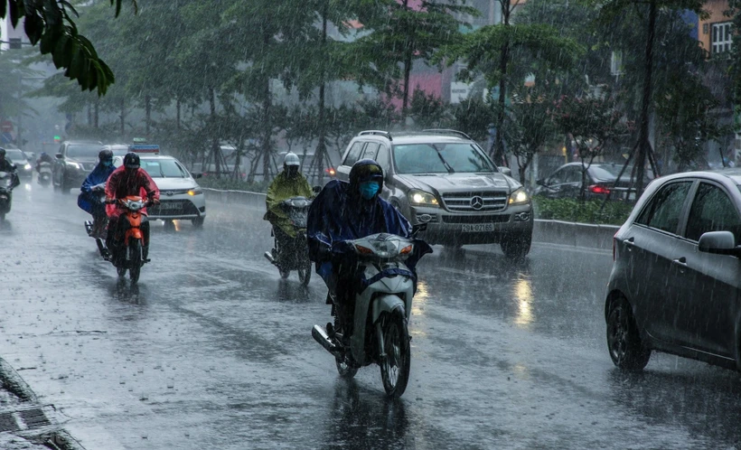
[[[497,172],[492,160],[470,144],[394,145],[398,173]]]

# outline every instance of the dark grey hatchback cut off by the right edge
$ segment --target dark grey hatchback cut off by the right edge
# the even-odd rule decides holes
[[[741,170],[652,183],[614,236],[607,346],[641,370],[652,351],[741,369]]]

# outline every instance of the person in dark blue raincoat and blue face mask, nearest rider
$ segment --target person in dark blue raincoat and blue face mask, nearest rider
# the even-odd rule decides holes
[[[362,159],[352,166],[350,183],[333,180],[316,196],[309,210],[307,238],[309,258],[316,263],[316,273],[324,279],[330,291],[337,295],[338,313],[343,322],[352,317],[353,294],[358,286],[354,254],[333,252],[333,243],[361,239],[371,234],[390,233],[411,238],[409,221],[389,202],[381,199],[383,170],[371,159]],[[407,259],[407,267],[416,275],[417,261],[431,248],[423,241]],[[327,299],[329,304],[329,298]],[[344,306],[343,306],[344,305]]]

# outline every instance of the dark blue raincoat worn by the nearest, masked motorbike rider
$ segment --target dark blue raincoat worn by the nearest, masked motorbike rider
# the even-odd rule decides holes
[[[410,238],[411,231],[409,221],[389,202],[379,196],[364,201],[352,193],[350,183],[333,180],[324,186],[309,209],[306,229],[309,258],[316,263],[316,273],[327,282],[332,274],[332,261],[340,256],[333,255],[333,252],[346,251],[336,245],[338,242],[376,233]],[[415,243],[415,252],[406,264],[416,278],[417,261],[432,249],[422,240],[415,239]]]

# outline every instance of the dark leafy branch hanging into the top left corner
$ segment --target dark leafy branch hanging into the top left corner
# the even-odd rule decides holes
[[[121,13],[123,0],[110,0],[116,5],[116,17]],[[132,0],[136,11],[136,0]],[[10,16],[15,28],[25,18],[23,28],[28,40],[40,44],[42,54],[51,54],[57,69],[65,69],[64,76],[77,80],[80,88],[95,90],[104,95],[114,83],[115,76],[105,61],[98,58],[92,42],[78,32],[72,16],[75,8],[66,1],[3,0],[0,19]]]

